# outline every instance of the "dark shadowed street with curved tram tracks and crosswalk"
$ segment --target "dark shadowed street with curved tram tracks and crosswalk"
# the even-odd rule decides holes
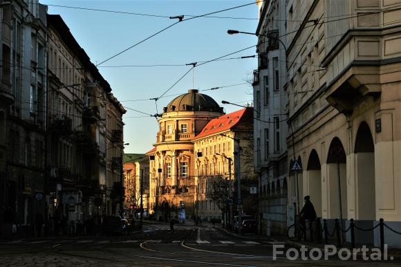
[[[250,236],[254,237],[254,236]],[[272,259],[265,239],[211,227],[144,225],[129,236],[58,237],[0,243],[0,266],[400,266],[395,261]]]

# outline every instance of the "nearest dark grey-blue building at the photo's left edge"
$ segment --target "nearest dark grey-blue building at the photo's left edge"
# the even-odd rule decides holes
[[[47,8],[7,1],[0,10],[0,234],[32,234],[46,207]]]

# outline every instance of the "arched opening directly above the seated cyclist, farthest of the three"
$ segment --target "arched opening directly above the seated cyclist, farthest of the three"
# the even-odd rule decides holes
[[[321,165],[315,149],[310,151],[306,175],[310,201],[315,206],[317,217],[321,217]]]

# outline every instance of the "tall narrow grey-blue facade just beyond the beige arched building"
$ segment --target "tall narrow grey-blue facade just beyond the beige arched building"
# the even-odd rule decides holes
[[[261,234],[287,232],[287,104],[286,47],[279,36],[286,33],[284,1],[258,3],[259,55],[254,71],[255,172],[259,181]]]

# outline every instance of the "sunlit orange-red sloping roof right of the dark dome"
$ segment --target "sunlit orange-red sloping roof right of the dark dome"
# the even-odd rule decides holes
[[[225,114],[224,116],[214,118],[213,120],[210,120],[205,127],[203,127],[201,133],[191,140],[194,141],[205,136],[210,136],[214,133],[220,133],[222,131],[232,129],[238,124],[241,118],[245,117],[245,115],[252,116],[252,108],[240,109],[239,111],[234,111],[232,113]]]

